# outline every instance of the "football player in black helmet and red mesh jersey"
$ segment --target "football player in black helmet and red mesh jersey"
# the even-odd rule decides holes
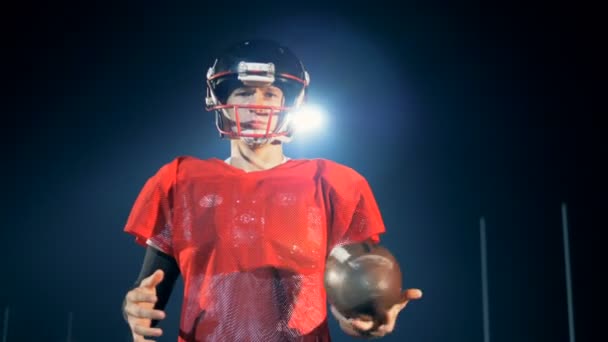
[[[206,103],[230,157],[178,157],[135,201],[125,231],[147,247],[123,304],[135,341],[162,334],[154,326],[180,274],[180,342],[330,340],[326,256],[340,244],[378,242],[385,228],[356,171],[283,154],[308,84],[300,60],[271,41],[237,44],[209,69]],[[420,296],[405,291],[383,324],[334,315],[350,335],[383,336]]]

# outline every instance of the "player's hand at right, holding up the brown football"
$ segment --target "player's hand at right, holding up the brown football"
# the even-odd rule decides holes
[[[403,301],[393,305],[388,309],[384,317],[379,321],[367,318],[344,319],[337,310],[331,306],[331,311],[340,323],[340,328],[351,336],[362,338],[378,338],[390,334],[395,329],[397,316],[401,310],[405,309],[410,300],[422,298],[422,291],[419,289],[408,289],[403,292]]]

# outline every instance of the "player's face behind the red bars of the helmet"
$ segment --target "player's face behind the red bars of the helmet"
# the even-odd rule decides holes
[[[226,104],[229,105],[259,105],[281,107],[283,105],[283,91],[273,86],[263,87],[242,87],[234,90]],[[236,122],[236,114],[234,108],[226,110],[231,121]],[[271,118],[272,114],[272,118]],[[250,133],[264,134],[268,127],[268,121],[271,120],[269,133],[273,132],[277,127],[278,112],[263,108],[239,108],[238,115],[241,124],[241,130]],[[236,131],[236,127],[233,128]]]

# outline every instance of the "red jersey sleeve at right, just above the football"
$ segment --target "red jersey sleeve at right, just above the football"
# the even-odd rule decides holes
[[[330,249],[342,244],[371,240],[380,242],[385,226],[372,189],[363,177],[350,186],[330,193],[332,220],[329,234]]]

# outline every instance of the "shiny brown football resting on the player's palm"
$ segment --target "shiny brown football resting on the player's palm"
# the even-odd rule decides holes
[[[346,318],[380,319],[402,299],[399,263],[387,248],[371,242],[332,249],[324,282],[328,302]]]

